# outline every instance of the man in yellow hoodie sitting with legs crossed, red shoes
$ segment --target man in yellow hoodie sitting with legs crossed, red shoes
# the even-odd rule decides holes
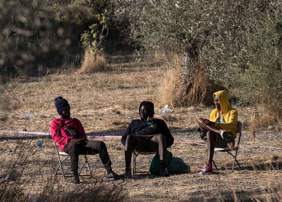
[[[238,128],[238,112],[229,103],[227,91],[213,93],[215,109],[210,119],[199,118],[199,133],[202,139],[208,142],[208,162],[199,174],[211,174],[214,147],[234,146]]]

